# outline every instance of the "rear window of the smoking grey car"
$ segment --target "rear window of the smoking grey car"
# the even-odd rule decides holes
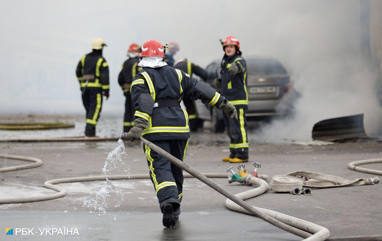
[[[247,61],[248,74],[288,74],[284,66],[274,59],[250,59]]]

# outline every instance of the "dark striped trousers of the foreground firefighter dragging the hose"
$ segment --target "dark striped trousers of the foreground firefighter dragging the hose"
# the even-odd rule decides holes
[[[155,145],[183,161],[186,155],[188,140],[152,141]],[[183,170],[165,159],[150,147],[143,145],[150,169],[150,179],[157,193],[159,207],[163,213],[163,206],[171,203],[174,215],[180,214],[180,202],[183,197]]]

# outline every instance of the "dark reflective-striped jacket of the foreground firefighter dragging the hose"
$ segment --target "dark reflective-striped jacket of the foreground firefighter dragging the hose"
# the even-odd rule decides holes
[[[131,84],[134,118],[149,126],[142,136],[149,141],[185,140],[190,137],[188,114],[180,107],[187,95],[192,100],[219,107],[224,97],[203,81],[170,66],[143,68]]]

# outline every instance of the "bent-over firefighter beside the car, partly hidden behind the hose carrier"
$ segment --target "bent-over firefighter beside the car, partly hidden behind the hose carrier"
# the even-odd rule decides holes
[[[184,58],[176,60],[173,67],[187,73],[191,77],[192,77],[192,74],[196,74],[197,76],[202,78],[204,81],[206,81],[208,78],[208,74],[206,70],[204,70],[203,68],[199,67],[198,65],[194,63],[191,63],[191,61]],[[186,106],[186,111],[188,113],[188,120],[189,120],[189,126],[191,131],[196,131],[197,129],[202,128],[203,120],[197,118],[195,101],[191,100],[188,96],[185,96],[183,98],[183,103]]]

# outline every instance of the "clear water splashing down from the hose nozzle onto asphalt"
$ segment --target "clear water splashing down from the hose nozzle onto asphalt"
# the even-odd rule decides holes
[[[123,202],[123,193],[118,191],[114,186],[113,181],[107,178],[108,175],[113,175],[115,171],[123,170],[126,175],[130,175],[130,167],[125,164],[123,157],[126,156],[125,145],[121,139],[118,140],[117,147],[109,152],[107,155],[105,165],[102,168],[102,172],[106,177],[106,183],[104,186],[94,188],[89,196],[84,197],[83,207],[87,206],[91,209],[101,213],[111,215],[114,220],[117,219],[116,214],[108,214],[107,211],[112,211],[113,207],[110,207],[109,199],[113,199],[114,207],[119,207]]]

